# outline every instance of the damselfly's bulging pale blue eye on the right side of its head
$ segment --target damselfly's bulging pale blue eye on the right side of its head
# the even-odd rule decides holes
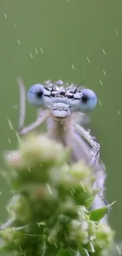
[[[79,99],[79,109],[83,113],[90,112],[97,104],[97,96],[90,89],[83,89]]]

